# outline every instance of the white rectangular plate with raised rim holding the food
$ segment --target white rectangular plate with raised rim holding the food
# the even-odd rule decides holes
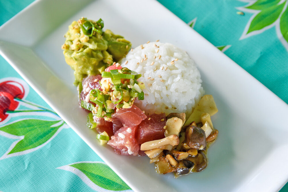
[[[102,18],[105,29],[132,47],[160,39],[195,60],[219,109],[213,116],[219,137],[204,171],[175,179],[157,174],[147,157],[120,156],[99,145],[60,48],[68,25],[82,16]],[[157,1],[36,1],[1,26],[0,52],[135,191],[277,191],[287,182],[288,105]]]

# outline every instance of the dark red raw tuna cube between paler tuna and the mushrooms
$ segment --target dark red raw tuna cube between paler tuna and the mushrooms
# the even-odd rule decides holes
[[[161,121],[161,119],[163,119]],[[151,114],[147,115],[147,118],[143,120],[137,131],[137,141],[139,144],[145,143],[147,141],[153,141],[157,139],[164,138],[164,129],[166,125],[166,116],[165,113]]]

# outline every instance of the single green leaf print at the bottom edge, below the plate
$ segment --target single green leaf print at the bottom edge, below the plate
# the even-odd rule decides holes
[[[73,172],[94,190],[101,188],[111,191],[131,190],[131,188],[103,162],[82,161],[58,167]]]

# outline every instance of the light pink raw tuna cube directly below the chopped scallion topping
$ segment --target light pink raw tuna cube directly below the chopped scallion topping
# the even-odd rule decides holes
[[[129,109],[123,109],[121,108],[119,111],[114,113],[112,115],[113,118],[117,118],[121,121],[121,123],[126,127],[134,127],[137,126],[146,119],[146,115],[136,107],[135,105],[132,105]]]

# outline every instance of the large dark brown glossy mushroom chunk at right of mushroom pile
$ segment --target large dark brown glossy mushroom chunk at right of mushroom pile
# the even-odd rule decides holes
[[[185,133],[186,143],[192,149],[204,149],[207,145],[206,136],[203,129],[190,126]]]

